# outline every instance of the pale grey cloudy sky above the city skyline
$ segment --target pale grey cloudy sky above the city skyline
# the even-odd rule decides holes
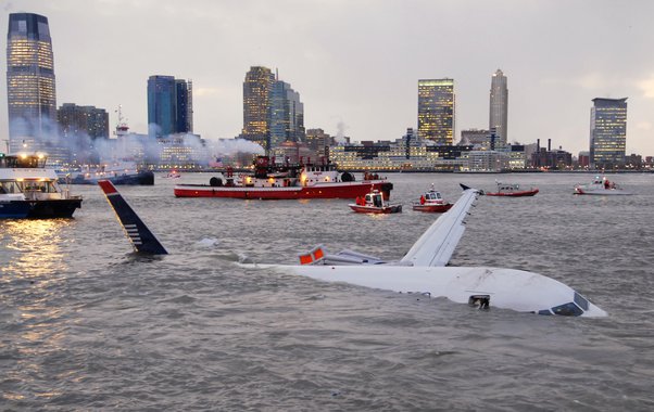
[[[192,79],[194,131],[234,138],[253,65],[300,92],[305,127],[389,140],[417,125],[417,81],[453,78],[456,139],[488,128],[508,78],[508,139],[588,150],[594,98],[629,98],[627,152],[654,155],[654,1],[1,0],[48,17],[58,106],[95,105],[147,132],[147,79]],[[5,53],[2,67],[7,67]],[[3,68],[5,72],[7,69]],[[0,126],[7,128],[5,81]]]

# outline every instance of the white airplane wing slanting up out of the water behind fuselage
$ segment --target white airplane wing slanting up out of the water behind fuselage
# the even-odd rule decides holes
[[[465,189],[465,188],[464,188]],[[441,215],[400,260],[412,266],[445,266],[465,231],[464,218],[479,191],[467,188],[454,206]]]

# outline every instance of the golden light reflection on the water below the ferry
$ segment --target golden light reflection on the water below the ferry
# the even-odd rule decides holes
[[[4,337],[13,343],[3,355],[9,379],[4,399],[58,395],[39,388],[51,378],[45,360],[65,350],[70,310],[64,245],[71,224],[66,219],[0,221],[0,318]]]

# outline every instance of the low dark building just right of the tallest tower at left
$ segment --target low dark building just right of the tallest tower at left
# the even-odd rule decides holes
[[[81,136],[109,139],[109,113],[104,108],[64,103],[56,111],[56,119],[65,140]]]

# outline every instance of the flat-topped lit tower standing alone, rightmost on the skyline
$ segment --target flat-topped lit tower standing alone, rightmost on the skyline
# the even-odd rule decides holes
[[[627,98],[593,99],[590,111],[590,164],[605,168],[625,164]]]

